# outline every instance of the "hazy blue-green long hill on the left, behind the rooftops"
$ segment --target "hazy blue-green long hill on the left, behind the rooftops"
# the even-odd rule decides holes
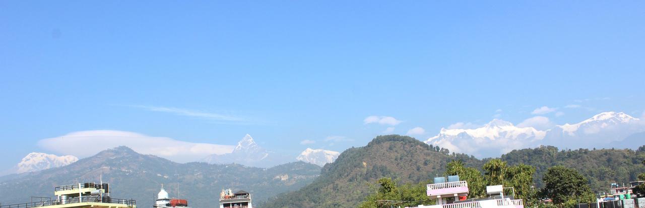
[[[186,198],[192,207],[211,207],[221,189],[253,193],[262,203],[285,191],[295,191],[315,179],[321,167],[291,162],[271,168],[239,164],[179,164],[154,155],[141,155],[128,147],[116,147],[63,167],[0,177],[3,205],[29,202],[30,196],[52,196],[57,185],[83,182],[110,183],[114,198],[134,198],[152,205],[161,184],[171,197]]]

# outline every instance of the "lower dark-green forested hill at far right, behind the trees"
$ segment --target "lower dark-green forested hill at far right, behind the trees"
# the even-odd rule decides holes
[[[528,164],[535,167],[535,184],[542,187],[542,176],[554,165],[571,167],[582,173],[590,182],[591,190],[609,191],[611,183],[622,184],[635,181],[639,173],[645,173],[645,146],[632,149],[576,149],[561,150],[542,146],[535,149],[513,150],[502,155],[510,165]]]

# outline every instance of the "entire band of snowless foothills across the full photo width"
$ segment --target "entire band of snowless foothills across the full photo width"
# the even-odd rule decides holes
[[[633,144],[636,145],[636,144]],[[635,180],[645,172],[645,146],[631,149],[559,150],[542,146],[513,150],[501,156],[510,165],[536,167],[537,188],[548,167],[566,165],[588,178],[593,191],[606,191],[613,182]],[[308,152],[315,152],[308,151]],[[69,165],[43,171],[0,177],[0,202],[28,202],[29,196],[51,196],[56,185],[79,182],[110,183],[115,198],[134,198],[139,205],[152,204],[161,184],[171,197],[186,198],[193,207],[208,207],[224,188],[253,194],[257,207],[356,207],[377,189],[376,180],[391,177],[400,183],[426,182],[443,175],[446,164],[462,160],[481,167],[489,159],[477,159],[428,145],[412,137],[384,135],[364,147],[343,151],[322,168],[292,162],[271,168],[240,164],[179,164],[154,155],[141,155],[128,147],[101,151]],[[150,200],[150,201],[148,201]]]

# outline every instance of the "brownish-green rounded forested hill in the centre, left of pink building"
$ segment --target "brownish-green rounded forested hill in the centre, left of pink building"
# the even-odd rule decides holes
[[[372,193],[370,185],[384,176],[418,183],[442,175],[446,164],[455,159],[481,167],[481,160],[472,156],[447,153],[412,137],[379,136],[367,146],[342,152],[312,184],[281,194],[262,207],[357,207]]]

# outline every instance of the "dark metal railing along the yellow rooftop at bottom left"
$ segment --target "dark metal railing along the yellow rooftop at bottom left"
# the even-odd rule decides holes
[[[32,208],[32,207],[45,207],[51,205],[61,205],[68,203],[83,203],[83,202],[97,202],[97,203],[119,203],[128,205],[128,207],[134,207],[137,205],[136,200],[124,200],[120,198],[101,198],[98,196],[84,196],[81,198],[67,198],[64,200],[48,200],[42,202],[28,202],[28,203],[17,203],[11,205],[1,205],[0,208]]]

